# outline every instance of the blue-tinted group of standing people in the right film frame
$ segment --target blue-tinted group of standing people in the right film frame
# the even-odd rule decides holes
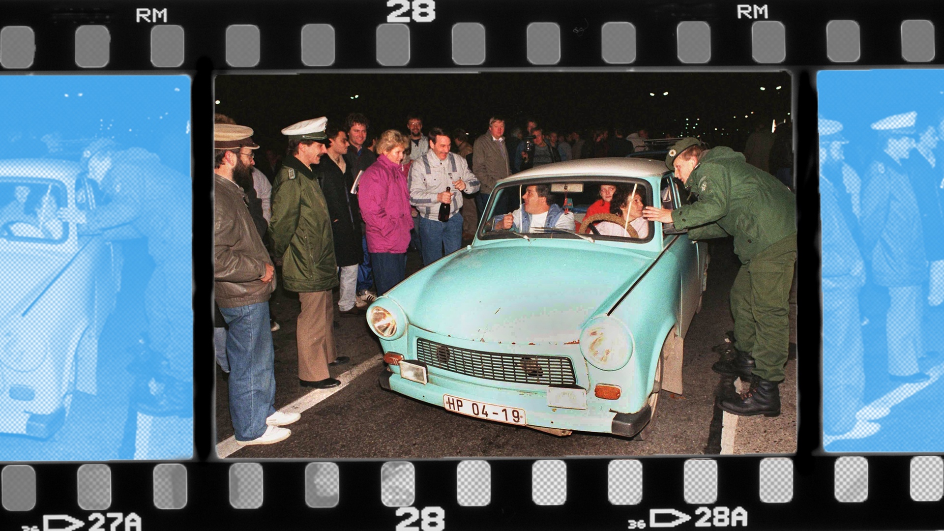
[[[827,436],[856,438],[877,427],[861,415],[864,334],[885,334],[880,382],[927,382],[919,360],[938,356],[924,348],[923,323],[926,308],[944,300],[944,172],[937,165],[944,112],[877,120],[874,150],[868,146],[861,161],[846,159],[850,141],[842,131],[842,123],[820,116],[823,427]]]

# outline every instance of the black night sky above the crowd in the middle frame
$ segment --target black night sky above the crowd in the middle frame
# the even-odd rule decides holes
[[[778,86],[782,88],[777,90]],[[329,122],[338,124],[351,111],[367,116],[368,132],[373,135],[388,128],[406,131],[407,115],[416,112],[423,117],[424,132],[432,127],[450,133],[464,128],[474,140],[488,128],[489,117],[500,114],[506,119],[506,134],[533,116],[546,129],[621,124],[648,128],[650,138],[694,131],[713,146],[740,149],[750,133],[750,119],[766,114],[781,122],[789,117],[791,103],[790,76],[782,72],[323,72],[219,76],[215,87],[220,102],[216,111],[253,128],[263,148],[278,150],[284,146],[281,128],[318,116],[328,116]],[[358,97],[352,99],[354,95]],[[685,118],[690,125],[687,131]]]

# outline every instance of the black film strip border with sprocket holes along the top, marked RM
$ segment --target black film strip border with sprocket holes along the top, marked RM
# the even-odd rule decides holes
[[[541,16],[530,2],[496,0],[480,0],[474,9],[443,0],[333,4],[313,5],[317,9],[308,13],[286,0],[266,2],[264,8],[258,3],[224,8],[215,2],[177,1],[162,3],[160,9],[112,2],[93,9],[50,4],[44,10],[35,9],[34,2],[11,2],[0,29],[0,66],[186,69],[200,57],[209,57],[221,69],[287,70],[796,66],[921,64],[936,57],[936,12],[926,2],[715,5],[650,0],[630,7],[591,0],[577,6],[542,3],[548,9]],[[312,22],[283,15],[290,12]],[[544,17],[546,22],[512,22]],[[363,25],[356,30],[349,23],[320,22],[325,20]]]

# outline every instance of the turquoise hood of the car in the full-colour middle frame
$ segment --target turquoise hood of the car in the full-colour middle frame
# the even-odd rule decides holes
[[[581,240],[554,247],[547,240],[503,242],[462,248],[414,273],[388,296],[410,324],[436,334],[567,343],[580,338],[589,317],[613,307],[653,259]]]

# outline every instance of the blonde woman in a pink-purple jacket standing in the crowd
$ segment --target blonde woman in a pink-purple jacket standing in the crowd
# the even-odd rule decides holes
[[[406,146],[403,133],[396,129],[383,131],[377,141],[377,162],[364,170],[358,185],[358,204],[378,295],[406,278],[407,247],[413,229],[410,192],[400,166]]]

